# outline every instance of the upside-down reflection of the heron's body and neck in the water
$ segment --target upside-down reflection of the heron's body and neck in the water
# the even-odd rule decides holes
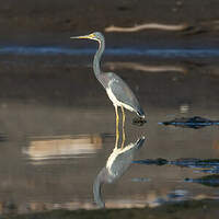
[[[100,171],[93,184],[93,195],[96,205],[101,208],[105,207],[105,203],[101,195],[101,188],[104,183],[113,183],[118,180],[129,168],[134,159],[135,152],[143,145],[145,136],[130,142],[127,146],[118,147],[117,143],[106,161],[106,165]]]

